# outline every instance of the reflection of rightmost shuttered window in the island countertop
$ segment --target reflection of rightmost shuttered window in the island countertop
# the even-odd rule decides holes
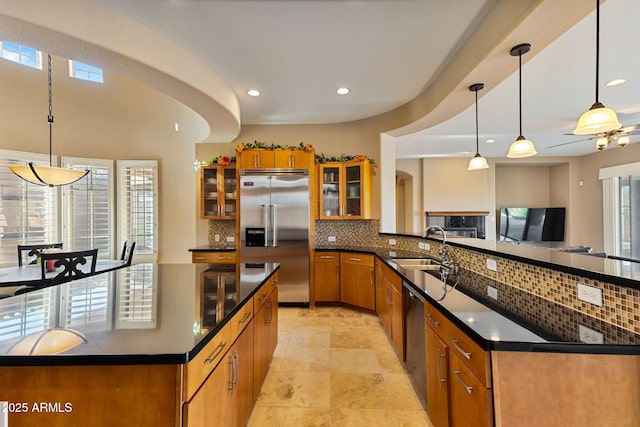
[[[116,329],[155,328],[156,268],[154,264],[138,264],[118,271]]]

